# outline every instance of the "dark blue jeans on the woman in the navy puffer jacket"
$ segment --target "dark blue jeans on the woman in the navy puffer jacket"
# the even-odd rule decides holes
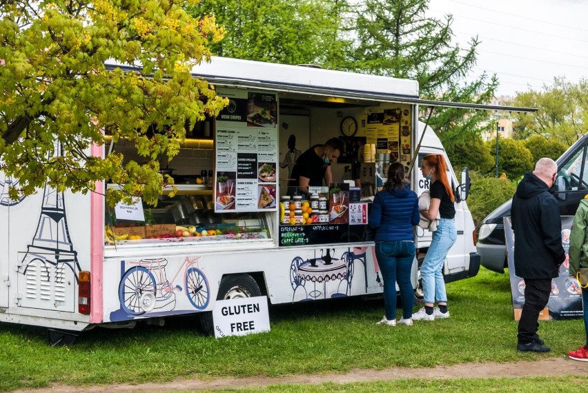
[[[411,269],[415,258],[415,243],[412,241],[381,241],[375,243],[375,257],[378,259],[384,280],[384,306],[386,319],[396,319],[396,282],[402,299],[402,317],[413,316],[414,290],[411,283]]]

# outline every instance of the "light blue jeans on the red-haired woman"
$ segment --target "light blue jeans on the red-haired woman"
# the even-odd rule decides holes
[[[433,232],[429,251],[420,267],[424,303],[435,303],[435,299],[438,302],[447,301],[443,263],[456,239],[458,239],[458,232],[455,230],[455,219],[440,219],[437,230]]]

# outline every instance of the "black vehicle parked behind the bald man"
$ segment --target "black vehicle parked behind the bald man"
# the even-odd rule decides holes
[[[558,178],[553,185],[562,216],[576,214],[581,199],[588,194],[588,134],[578,139],[557,159]],[[512,200],[504,202],[491,212],[480,225],[476,249],[482,266],[494,272],[504,273],[507,268],[507,250],[504,246],[502,219],[511,214]]]

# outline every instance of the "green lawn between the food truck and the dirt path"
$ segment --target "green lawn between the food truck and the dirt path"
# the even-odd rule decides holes
[[[49,347],[44,332],[3,324],[0,390],[545,359],[564,356],[585,339],[580,320],[542,322],[539,333],[552,351],[517,352],[507,274],[482,269],[473,279],[448,284],[447,292],[451,318],[412,327],[376,326],[382,301],[360,299],[275,306],[271,332],[221,340],[199,335],[195,321],[184,318],[169,319],[163,328],[97,328],[75,345]],[[427,386],[418,391],[428,392]]]

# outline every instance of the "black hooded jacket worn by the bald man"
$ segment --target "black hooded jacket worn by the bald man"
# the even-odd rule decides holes
[[[525,173],[511,206],[515,234],[515,274],[523,279],[553,279],[565,261],[562,223],[555,197],[544,181]]]

